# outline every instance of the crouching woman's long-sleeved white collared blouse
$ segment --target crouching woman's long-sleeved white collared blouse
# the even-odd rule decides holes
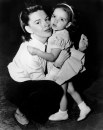
[[[8,71],[11,78],[17,82],[45,80],[46,77],[44,72],[46,61],[37,55],[31,55],[27,50],[27,46],[32,46],[41,51],[45,51],[45,44],[34,37],[32,37],[30,41],[23,42],[13,58],[13,61],[8,64]]]

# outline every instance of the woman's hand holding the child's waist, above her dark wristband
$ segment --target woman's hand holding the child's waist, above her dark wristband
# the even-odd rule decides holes
[[[67,52],[67,50],[62,50],[54,62],[54,66],[57,68],[61,68],[64,62],[70,57],[70,53]]]

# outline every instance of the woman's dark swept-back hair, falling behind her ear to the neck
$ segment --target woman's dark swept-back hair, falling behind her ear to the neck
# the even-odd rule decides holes
[[[19,21],[20,21],[20,26],[24,32],[24,35],[22,36],[22,40],[30,39],[30,34],[25,30],[25,26],[28,25],[29,15],[38,10],[45,10],[45,9],[43,8],[42,5],[33,5],[33,6],[26,7],[23,11],[20,12]]]

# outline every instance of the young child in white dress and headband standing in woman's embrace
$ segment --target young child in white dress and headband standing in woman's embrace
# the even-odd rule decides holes
[[[79,42],[79,49],[76,50],[74,46],[72,47],[67,28],[72,25],[73,18],[74,12],[71,6],[65,3],[57,4],[51,17],[51,27],[53,29],[53,34],[48,39],[47,53],[28,46],[30,54],[36,54],[48,61],[48,73],[50,72],[49,74],[51,75],[51,78],[53,79],[54,77],[55,82],[62,85],[64,90],[64,95],[60,102],[60,109],[57,113],[51,115],[49,120],[57,121],[66,120],[68,118],[66,97],[67,92],[76,101],[80,109],[80,115],[77,121],[83,120],[91,111],[91,109],[82,100],[78,92],[74,90],[72,82],[68,81],[79,72],[85,70],[85,54],[83,51],[88,46],[86,36],[82,35]],[[57,59],[59,53],[63,49],[67,49],[71,56],[65,61],[59,72],[55,73],[56,71],[50,71],[51,69],[53,70],[53,62]]]

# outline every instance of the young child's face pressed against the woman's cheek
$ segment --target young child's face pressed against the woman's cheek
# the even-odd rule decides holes
[[[68,14],[62,8],[54,10],[51,17],[51,27],[55,31],[59,31],[67,28],[68,26]]]

